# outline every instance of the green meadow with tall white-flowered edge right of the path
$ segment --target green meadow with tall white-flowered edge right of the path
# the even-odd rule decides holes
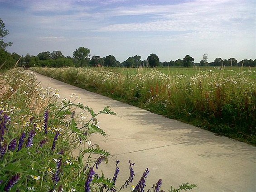
[[[32,70],[219,135],[256,144],[255,67]]]

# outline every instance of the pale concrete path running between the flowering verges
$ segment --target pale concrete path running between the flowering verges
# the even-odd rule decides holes
[[[96,112],[111,106],[119,115],[101,115],[100,126],[109,136],[92,137],[92,144],[111,153],[108,164],[101,164],[106,177],[112,178],[115,160],[120,160],[117,186],[128,178],[131,160],[135,182],[149,168],[146,189],[161,178],[166,191],[170,185],[188,182],[198,185],[194,192],[256,192],[256,147],[49,77],[37,74],[37,78],[42,86],[58,89],[61,97],[76,93],[79,102]]]

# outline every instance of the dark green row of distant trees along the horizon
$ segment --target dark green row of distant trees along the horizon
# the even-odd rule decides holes
[[[8,69],[14,67],[191,67],[191,66],[256,66],[256,59],[243,59],[237,62],[235,58],[222,59],[216,58],[213,62],[208,62],[208,54],[203,55],[203,59],[199,63],[194,62],[194,58],[186,55],[183,59],[171,60],[169,62],[160,62],[155,53],[150,54],[147,60],[141,60],[140,55],[131,56],[126,61],[119,62],[113,55],[101,58],[93,55],[90,58],[91,50],[85,47],[77,48],[73,52],[73,57],[64,56],[61,51],[44,51],[38,53],[37,56],[30,55],[20,56],[17,53],[9,53],[5,50],[12,43],[4,42],[4,38],[9,34],[5,29],[5,23],[0,19],[0,69]]]

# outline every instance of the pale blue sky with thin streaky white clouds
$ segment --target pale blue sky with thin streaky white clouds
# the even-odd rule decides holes
[[[256,58],[255,0],[0,0],[0,18],[20,55],[86,47],[120,62]]]

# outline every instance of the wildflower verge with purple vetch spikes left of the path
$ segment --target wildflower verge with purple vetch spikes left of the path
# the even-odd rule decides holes
[[[12,69],[0,73],[0,191],[5,192],[142,192],[150,171],[138,183],[134,162],[122,186],[116,161],[113,178],[97,171],[107,163],[109,152],[91,141],[92,134],[106,136],[98,115],[116,115],[108,106],[99,112],[79,103],[79,97],[60,98],[58,90],[43,89],[31,72]],[[78,150],[74,156],[73,151]],[[138,175],[137,175],[138,176]],[[159,179],[147,188],[159,192]],[[132,186],[132,184],[134,186]],[[183,183],[178,192],[196,187]]]

